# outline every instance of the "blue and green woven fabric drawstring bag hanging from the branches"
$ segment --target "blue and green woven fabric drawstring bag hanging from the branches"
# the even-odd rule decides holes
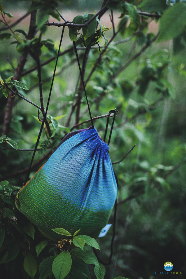
[[[96,129],[70,133],[44,166],[17,194],[16,206],[48,238],[51,228],[97,237],[107,224],[117,184],[104,143]]]

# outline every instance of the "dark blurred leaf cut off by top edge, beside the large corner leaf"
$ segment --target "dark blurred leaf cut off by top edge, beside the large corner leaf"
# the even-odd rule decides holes
[[[166,0],[145,0],[139,5],[139,8],[149,13],[159,12],[162,13],[167,8]]]

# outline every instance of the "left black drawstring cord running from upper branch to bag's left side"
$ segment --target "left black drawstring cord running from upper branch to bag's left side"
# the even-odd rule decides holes
[[[60,45],[59,45],[59,49],[58,49],[57,59],[56,59],[56,62],[55,62],[55,69],[54,69],[53,78],[52,78],[52,82],[51,82],[51,88],[50,88],[50,92],[49,92],[49,96],[48,96],[48,101],[47,101],[47,108],[46,108],[46,111],[45,111],[45,114],[44,114],[44,117],[43,117],[43,121],[42,121],[41,128],[40,128],[40,131],[39,131],[38,139],[37,139],[34,151],[33,151],[32,159],[31,159],[31,162],[30,162],[30,166],[29,166],[29,170],[28,170],[26,179],[24,181],[24,185],[26,184],[27,180],[29,179],[29,174],[30,174],[32,163],[33,163],[33,159],[34,159],[34,156],[35,156],[38,144],[39,144],[39,139],[40,139],[41,134],[42,134],[42,129],[43,129],[44,123],[45,123],[46,118],[47,118],[47,111],[48,111],[48,106],[49,106],[51,92],[52,92],[52,86],[53,86],[54,77],[55,77],[55,70],[56,70],[56,67],[57,67],[57,61],[58,61],[59,54],[60,54],[60,47],[61,47],[61,42],[62,42],[62,39],[63,39],[64,28],[65,28],[65,24],[66,23],[69,23],[69,21],[65,22],[64,25],[63,25],[63,30],[62,30],[62,33],[61,33],[61,39],[60,39]]]

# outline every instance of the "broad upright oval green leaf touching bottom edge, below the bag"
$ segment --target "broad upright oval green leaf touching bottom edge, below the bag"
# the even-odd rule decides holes
[[[70,271],[72,259],[69,251],[62,251],[52,263],[52,271],[56,279],[63,279]]]

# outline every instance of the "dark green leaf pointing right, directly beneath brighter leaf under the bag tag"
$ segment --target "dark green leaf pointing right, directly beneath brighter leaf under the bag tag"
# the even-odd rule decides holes
[[[92,251],[89,250],[82,251],[80,250],[80,248],[75,248],[75,249],[71,249],[70,252],[73,253],[79,259],[82,259],[84,263],[95,264],[98,267],[100,267],[98,260]]]

